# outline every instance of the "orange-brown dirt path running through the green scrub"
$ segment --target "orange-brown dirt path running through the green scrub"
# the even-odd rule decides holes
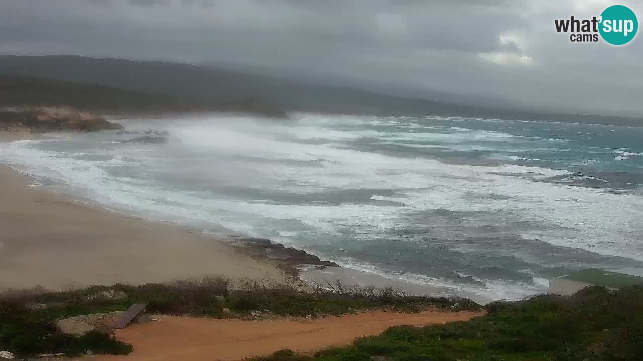
[[[343,346],[361,336],[379,335],[392,326],[425,326],[466,321],[476,312],[368,312],[322,319],[269,321],[214,320],[159,316],[159,322],[135,324],[118,331],[132,344],[128,357],[96,357],[96,361],[242,360],[279,349],[311,353]]]

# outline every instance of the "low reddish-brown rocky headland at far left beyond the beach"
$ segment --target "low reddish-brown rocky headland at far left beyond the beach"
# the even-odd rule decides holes
[[[36,107],[0,111],[0,130],[99,132],[121,128],[120,124],[111,123],[102,116],[69,107]]]

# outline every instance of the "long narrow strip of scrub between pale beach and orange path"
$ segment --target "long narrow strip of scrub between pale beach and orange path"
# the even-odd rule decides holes
[[[412,296],[395,288],[345,286],[335,282],[327,288],[304,292],[298,283],[271,285],[240,280],[235,284],[226,277],[203,277],[170,284],[91,286],[7,297],[38,306],[33,312],[43,319],[124,311],[134,303],[147,304],[150,313],[213,318],[244,317],[252,313],[306,317],[372,309],[417,312],[428,306],[480,310],[480,306],[469,299]]]

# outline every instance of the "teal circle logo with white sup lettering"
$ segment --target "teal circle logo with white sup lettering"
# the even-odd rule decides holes
[[[624,45],[637,35],[638,18],[625,5],[612,5],[601,13],[599,33],[612,45]]]

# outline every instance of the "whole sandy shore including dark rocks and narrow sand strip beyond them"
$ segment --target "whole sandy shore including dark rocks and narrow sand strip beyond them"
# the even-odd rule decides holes
[[[0,132],[0,142],[41,137],[29,132]],[[73,193],[39,188],[33,179],[0,163],[0,229],[8,230],[0,234],[0,291],[35,286],[58,290],[113,283],[167,283],[216,274],[271,283],[303,281],[311,287],[338,279],[345,285],[393,287],[417,295],[458,295],[482,304],[491,301],[454,288],[337,267],[332,261],[265,238],[206,234],[108,209],[76,200]],[[66,229],[63,224],[69,223],[69,218],[77,224],[89,222],[93,229]],[[27,232],[21,224],[37,230]],[[40,244],[33,238],[53,239],[55,244]],[[89,263],[87,258],[91,257],[98,262]]]

